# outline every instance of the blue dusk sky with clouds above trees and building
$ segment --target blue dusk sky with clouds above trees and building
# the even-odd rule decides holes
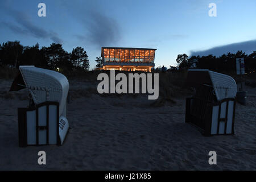
[[[40,2],[46,17],[38,16]],[[217,17],[208,15],[209,3]],[[102,46],[156,48],[156,67],[176,65],[180,53],[256,51],[255,0],[1,0],[0,23],[0,43],[81,46],[91,68]]]

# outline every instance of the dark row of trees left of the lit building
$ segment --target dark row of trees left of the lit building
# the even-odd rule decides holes
[[[35,46],[22,46],[20,42],[0,44],[0,67],[18,68],[19,65],[35,65],[36,67],[56,70],[89,71],[89,60],[82,47],[73,48],[72,52],[65,51],[61,44],[52,43],[49,47],[39,49]]]

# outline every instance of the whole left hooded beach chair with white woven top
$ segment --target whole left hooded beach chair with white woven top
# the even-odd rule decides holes
[[[34,103],[18,108],[19,146],[61,145],[69,129],[67,78],[48,69],[20,66],[10,91],[23,88],[29,90]]]

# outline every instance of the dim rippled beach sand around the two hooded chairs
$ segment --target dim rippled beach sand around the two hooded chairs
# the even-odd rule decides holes
[[[204,137],[185,123],[185,96],[176,104],[150,106],[147,96],[100,96],[94,83],[72,81],[63,146],[18,146],[17,108],[27,106],[26,90],[7,93],[1,80],[1,170],[255,170],[256,89],[247,105],[237,104],[235,135]],[[87,86],[86,86],[87,85]],[[46,151],[46,165],[38,151]],[[209,165],[208,152],[217,152]]]

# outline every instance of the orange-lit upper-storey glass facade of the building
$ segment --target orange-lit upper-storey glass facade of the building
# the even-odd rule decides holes
[[[105,62],[154,63],[155,49],[103,48]]]

